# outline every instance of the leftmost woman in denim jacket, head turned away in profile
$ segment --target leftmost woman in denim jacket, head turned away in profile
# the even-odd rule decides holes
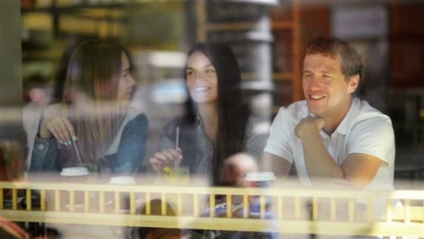
[[[82,164],[90,171],[133,173],[144,157],[148,122],[129,106],[130,57],[112,41],[86,41],[70,59],[61,104],[44,113],[30,171]],[[75,147],[78,145],[78,147]]]

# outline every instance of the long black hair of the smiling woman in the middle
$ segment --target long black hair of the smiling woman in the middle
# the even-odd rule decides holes
[[[219,185],[219,175],[224,159],[243,151],[245,126],[250,113],[241,99],[241,73],[232,50],[227,45],[219,43],[199,43],[190,49],[188,57],[195,52],[202,52],[211,61],[218,78],[218,132],[213,151],[212,183]],[[184,76],[186,79],[185,73]],[[181,132],[187,132],[180,135],[181,150],[184,155],[182,163],[189,165],[190,171],[194,171],[194,166],[188,160],[194,160],[199,150],[195,147],[197,139],[194,131],[197,113],[191,97],[185,106],[183,117],[176,123],[182,128]],[[171,130],[167,130],[169,132],[167,134],[174,138],[176,125],[171,125],[167,127]]]

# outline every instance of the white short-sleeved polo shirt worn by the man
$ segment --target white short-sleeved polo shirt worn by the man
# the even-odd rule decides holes
[[[270,129],[265,152],[294,163],[305,186],[312,186],[303,157],[301,140],[294,129],[301,119],[310,115],[306,101],[297,101],[287,108],[280,108]],[[336,164],[342,165],[347,155],[370,154],[381,164],[374,179],[365,189],[393,189],[395,164],[395,136],[391,119],[370,106],[366,101],[352,99],[351,108],[331,136],[319,132],[321,139]]]

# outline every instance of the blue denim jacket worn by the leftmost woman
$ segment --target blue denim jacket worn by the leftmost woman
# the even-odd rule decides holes
[[[144,157],[148,129],[149,122],[143,113],[137,113],[130,120],[124,120],[121,130],[117,133],[105,157],[98,160],[97,167],[100,173],[103,171],[119,175],[137,173]],[[59,146],[56,138],[43,140],[37,136],[29,171],[59,172],[62,168],[66,168],[66,156],[63,154],[64,150],[61,150],[62,147],[66,146]]]

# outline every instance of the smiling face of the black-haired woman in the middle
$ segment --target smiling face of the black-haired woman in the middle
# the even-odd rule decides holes
[[[185,68],[190,96],[197,103],[210,103],[218,99],[218,76],[215,67],[202,52],[188,57]]]

